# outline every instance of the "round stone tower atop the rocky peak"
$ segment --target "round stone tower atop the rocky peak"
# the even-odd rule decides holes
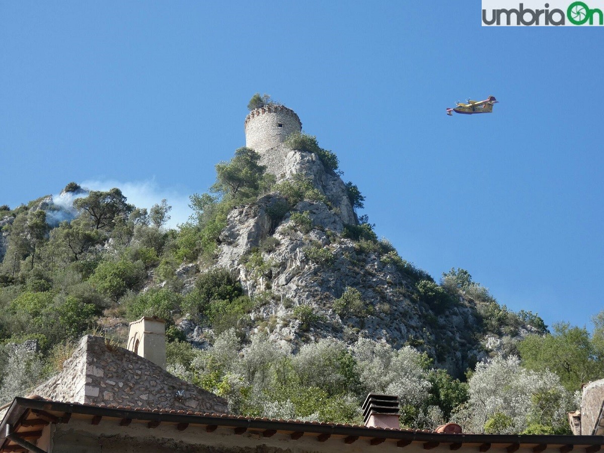
[[[300,132],[302,123],[296,112],[282,105],[254,109],[245,117],[245,146],[262,153],[283,143],[292,132]]]

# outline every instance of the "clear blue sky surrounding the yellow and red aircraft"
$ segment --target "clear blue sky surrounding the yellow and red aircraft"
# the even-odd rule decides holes
[[[336,152],[403,258],[590,327],[604,308],[604,28],[487,28],[480,14],[478,1],[2,0],[0,204],[120,184],[139,204],[168,196],[182,221],[268,92]],[[445,115],[491,94],[491,115]]]

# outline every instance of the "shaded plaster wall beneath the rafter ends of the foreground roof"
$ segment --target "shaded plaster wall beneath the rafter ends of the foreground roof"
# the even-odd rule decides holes
[[[184,431],[176,426],[162,423],[149,429],[146,423],[133,420],[129,426],[119,426],[119,419],[103,417],[99,425],[91,425],[89,419],[71,419],[66,425],[57,425],[53,435],[52,453],[400,453],[394,440],[387,440],[379,446],[371,446],[370,439],[359,439],[345,444],[344,437],[332,435],[326,442],[318,442],[316,434],[306,433],[298,440],[292,440],[289,432],[277,432],[271,437],[263,437],[261,431],[248,431],[237,435],[233,429],[220,427],[207,432],[205,426],[190,425]],[[479,445],[464,445],[458,451],[463,453],[478,451]],[[490,452],[506,453],[509,443],[491,445]],[[522,447],[518,453],[532,453],[533,445]],[[559,453],[560,445],[548,445],[544,453]],[[422,443],[406,446],[405,453],[425,453]],[[443,443],[431,449],[431,453],[451,453],[450,444]]]

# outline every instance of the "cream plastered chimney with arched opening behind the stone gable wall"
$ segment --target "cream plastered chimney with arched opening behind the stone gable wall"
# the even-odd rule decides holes
[[[144,316],[130,323],[128,350],[165,368],[165,321]]]

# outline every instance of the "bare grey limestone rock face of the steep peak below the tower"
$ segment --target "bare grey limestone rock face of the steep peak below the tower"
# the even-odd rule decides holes
[[[357,225],[358,220],[344,182],[326,171],[316,155],[281,144],[263,152],[261,162],[277,181],[306,176],[330,206],[301,201],[282,218],[275,218],[272,208],[284,199],[271,193],[228,215],[216,266],[233,271],[255,301],[254,327],[249,333],[264,330],[273,341],[294,348],[309,337],[310,341],[333,337],[352,343],[364,336],[394,347],[412,344],[429,352],[440,366],[463,372],[475,349],[481,348],[472,338],[470,326],[477,320],[469,304],[435,313],[420,302],[413,278],[387,260],[382,262],[379,245],[367,242],[370,245],[363,246],[342,237],[345,226]],[[295,225],[292,213],[307,213],[310,228]],[[365,313],[333,309],[347,288],[361,293]],[[312,324],[298,319],[298,306],[312,307],[316,315]],[[191,341],[200,342],[201,329],[186,327]]]

